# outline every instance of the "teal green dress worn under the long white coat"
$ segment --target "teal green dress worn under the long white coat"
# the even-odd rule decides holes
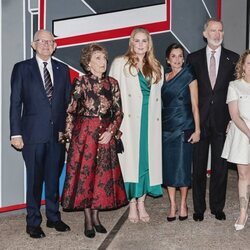
[[[141,113],[140,151],[139,151],[139,182],[125,182],[128,200],[139,198],[144,194],[151,196],[162,195],[161,185],[149,185],[148,169],[148,103],[150,96],[150,85],[141,72],[138,74],[140,87],[143,95]]]

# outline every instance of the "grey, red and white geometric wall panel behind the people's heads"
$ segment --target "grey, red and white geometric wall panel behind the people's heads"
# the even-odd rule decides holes
[[[85,44],[102,43],[111,62],[126,52],[136,26],[151,32],[157,58],[165,65],[165,49],[172,42],[182,43],[187,52],[205,45],[203,24],[209,16],[220,17],[220,4],[218,0],[41,0],[39,24],[57,36],[55,57],[76,72],[82,72],[79,55]]]

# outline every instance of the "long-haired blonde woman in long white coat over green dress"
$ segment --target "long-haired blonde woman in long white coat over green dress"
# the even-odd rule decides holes
[[[144,28],[135,28],[127,53],[116,58],[110,75],[118,80],[124,118],[124,153],[119,155],[127,197],[128,219],[148,222],[146,195],[162,195],[161,86],[163,69],[154,56],[153,42]]]

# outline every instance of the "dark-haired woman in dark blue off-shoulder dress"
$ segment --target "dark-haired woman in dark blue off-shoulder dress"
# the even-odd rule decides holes
[[[176,219],[176,188],[181,192],[179,220],[188,218],[187,193],[191,186],[192,144],[200,140],[198,87],[191,65],[184,64],[184,48],[166,50],[170,72],[162,87],[163,185],[170,199],[168,221]]]

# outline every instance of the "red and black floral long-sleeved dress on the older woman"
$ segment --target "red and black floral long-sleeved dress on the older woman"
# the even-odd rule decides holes
[[[107,144],[98,143],[103,132],[117,133],[122,118],[114,78],[88,74],[75,79],[66,118],[65,137],[70,146],[64,210],[114,209],[127,204],[114,136]]]

